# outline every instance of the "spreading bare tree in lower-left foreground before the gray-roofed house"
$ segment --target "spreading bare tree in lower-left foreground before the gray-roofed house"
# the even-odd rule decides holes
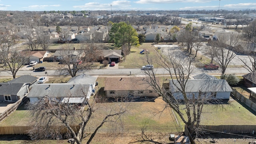
[[[84,93],[84,91],[82,90]],[[69,97],[67,95],[67,97]],[[89,121],[97,110],[97,104],[89,102],[84,93],[86,105],[81,110],[80,104],[60,102],[60,100],[44,96],[40,101],[27,104],[31,114],[33,128],[29,135],[33,139],[72,138],[72,143],[82,144],[84,138],[89,137],[86,144],[94,138],[96,132],[105,124],[112,122],[113,126],[126,112],[126,108],[116,104],[115,107],[104,107],[106,116],[96,125],[92,134],[85,134]],[[93,100],[92,100],[93,101]],[[102,110],[103,111],[103,110]]]

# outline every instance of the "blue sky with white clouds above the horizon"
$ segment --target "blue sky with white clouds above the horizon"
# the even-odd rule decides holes
[[[0,10],[244,10],[256,0],[0,0]]]

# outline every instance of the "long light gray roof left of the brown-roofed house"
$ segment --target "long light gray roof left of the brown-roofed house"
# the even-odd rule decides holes
[[[50,85],[50,87],[49,87]],[[87,94],[90,84],[36,84],[30,90],[28,97],[84,97]]]

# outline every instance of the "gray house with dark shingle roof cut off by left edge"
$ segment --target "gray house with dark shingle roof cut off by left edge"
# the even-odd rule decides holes
[[[16,102],[28,93],[28,85],[24,83],[0,83],[0,102]]]

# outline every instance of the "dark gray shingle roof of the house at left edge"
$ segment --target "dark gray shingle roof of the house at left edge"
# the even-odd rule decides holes
[[[24,83],[13,83],[13,84],[8,84],[7,82],[0,83],[0,95],[1,94],[11,94],[15,95],[17,94]]]

